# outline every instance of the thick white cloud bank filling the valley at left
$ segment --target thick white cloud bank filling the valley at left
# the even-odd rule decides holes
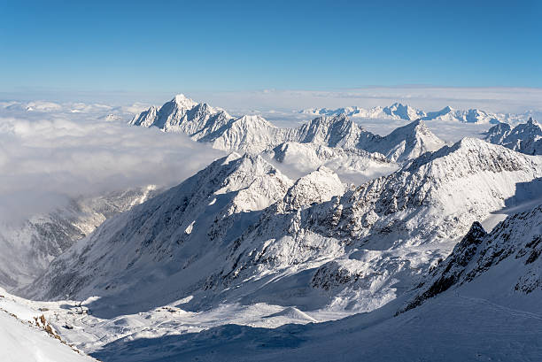
[[[0,118],[0,220],[25,220],[67,197],[172,186],[221,155],[185,135],[95,117]]]

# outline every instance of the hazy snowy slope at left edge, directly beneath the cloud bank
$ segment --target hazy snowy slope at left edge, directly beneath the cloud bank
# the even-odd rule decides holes
[[[106,219],[157,193],[154,186],[71,200],[66,207],[0,230],[0,286],[16,288],[43,273],[50,261]]]

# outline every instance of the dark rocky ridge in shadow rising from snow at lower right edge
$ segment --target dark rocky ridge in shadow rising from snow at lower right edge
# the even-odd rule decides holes
[[[489,234],[475,222],[452,254],[430,273],[403,311],[474,280],[486,284],[485,289],[492,294],[503,297],[530,294],[534,290],[540,292],[541,254],[542,205],[509,216]]]

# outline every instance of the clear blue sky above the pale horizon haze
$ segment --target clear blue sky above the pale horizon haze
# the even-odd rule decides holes
[[[540,88],[541,3],[0,0],[0,92]]]

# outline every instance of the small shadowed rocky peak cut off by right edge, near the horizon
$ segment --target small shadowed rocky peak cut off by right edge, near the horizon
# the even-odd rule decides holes
[[[499,123],[487,131],[485,140],[528,155],[542,154],[542,126],[532,118],[514,128]]]

